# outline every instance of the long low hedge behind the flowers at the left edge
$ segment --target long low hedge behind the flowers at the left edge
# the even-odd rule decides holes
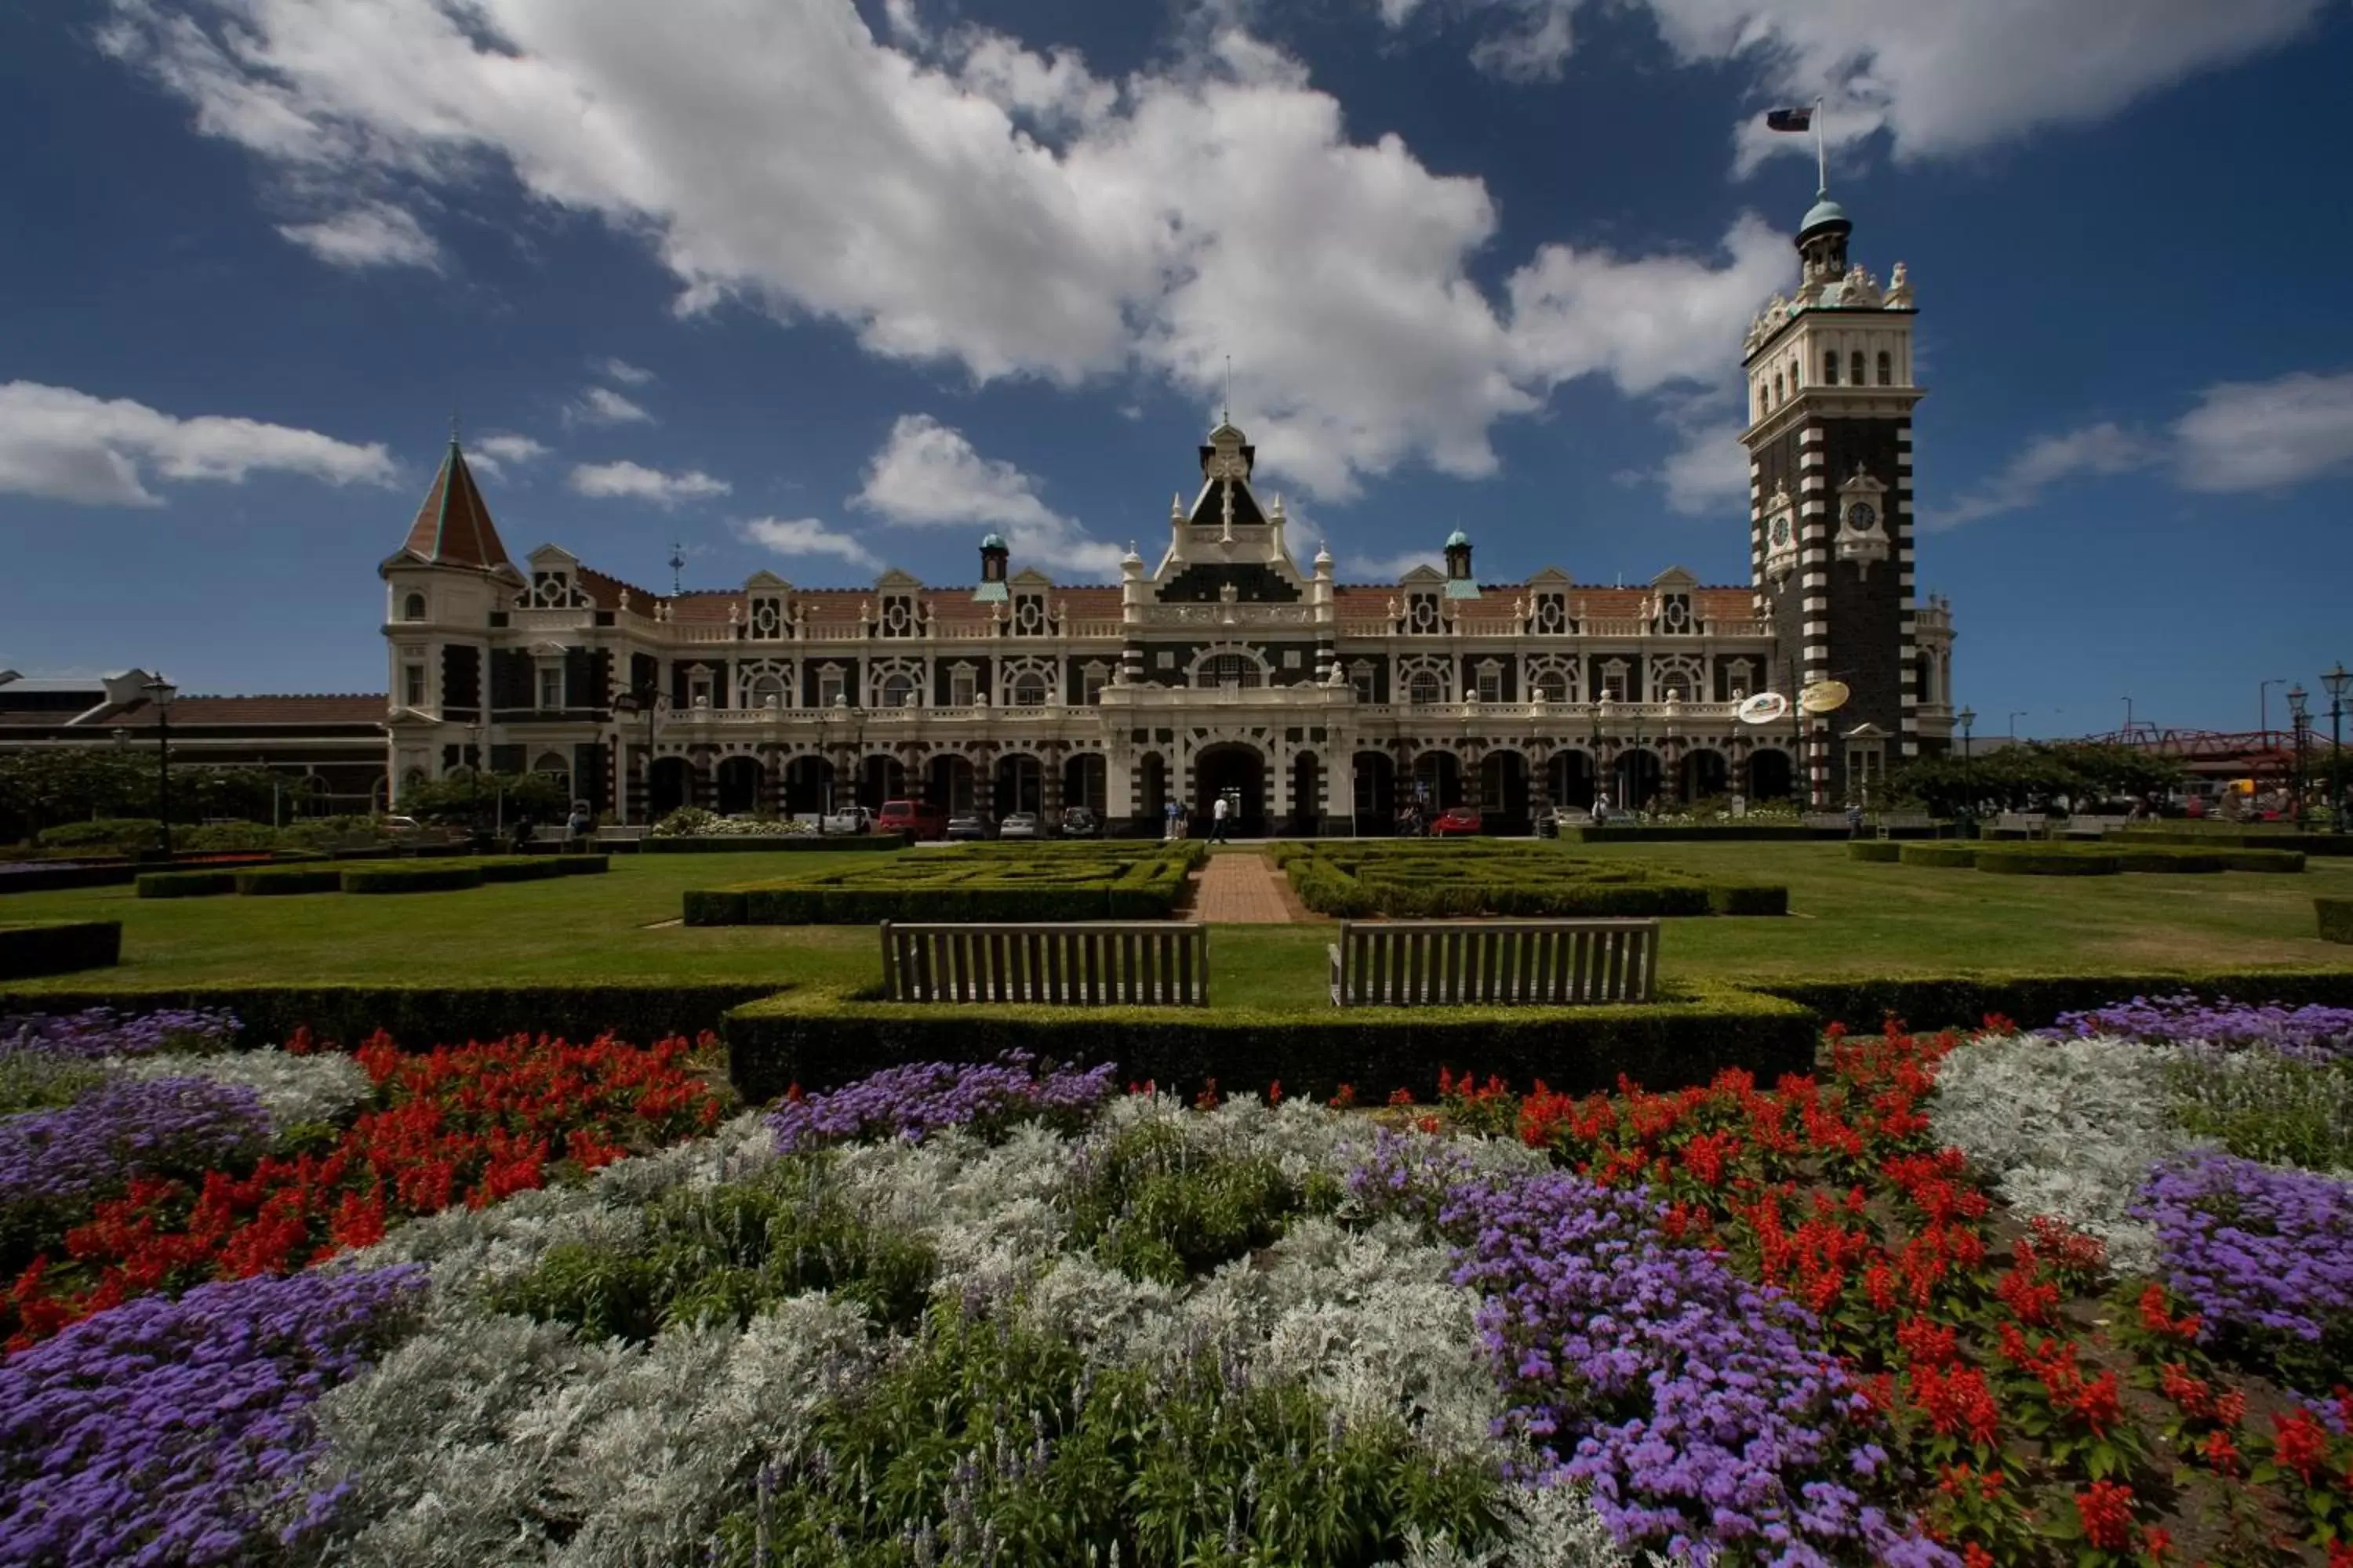
[[[228,1009],[240,1044],[273,1046],[296,1025],[320,1039],[358,1044],[376,1030],[409,1048],[558,1034],[614,1034],[649,1044],[666,1034],[718,1030],[729,1009],[767,997],[765,983],[699,985],[200,985],[169,990],[21,990],[0,992],[0,1013],[78,1013],[111,1006],[129,1013]]]

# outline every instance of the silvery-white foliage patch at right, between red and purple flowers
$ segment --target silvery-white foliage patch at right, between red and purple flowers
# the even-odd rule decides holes
[[[2047,1213],[2101,1237],[2120,1274],[2155,1267],[2155,1232],[2127,1220],[2148,1168],[2207,1147],[2174,1121],[2167,1070],[2177,1046],[2099,1034],[1981,1037],[1937,1070],[1929,1121],[1995,1178],[2026,1215]]]

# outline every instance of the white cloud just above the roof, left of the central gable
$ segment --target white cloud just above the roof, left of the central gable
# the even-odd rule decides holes
[[[1002,529],[1016,559],[1082,576],[1118,576],[1120,548],[1038,498],[1038,482],[1000,458],[984,458],[962,430],[929,414],[901,414],[866,463],[852,505],[908,527]]]

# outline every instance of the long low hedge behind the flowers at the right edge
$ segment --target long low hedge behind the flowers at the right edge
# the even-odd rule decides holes
[[[2132,997],[2231,997],[2280,1006],[2353,1006],[2353,966],[2233,969],[2191,973],[2073,976],[1887,976],[1871,980],[1748,980],[1751,990],[1812,1009],[1824,1025],[1878,1030],[1889,1016],[1915,1030],[1974,1030],[1986,1013],[2024,1027],[2049,1025]]]

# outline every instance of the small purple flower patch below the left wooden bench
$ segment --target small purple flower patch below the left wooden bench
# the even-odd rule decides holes
[[[1075,1128],[1111,1098],[1113,1072],[1111,1063],[1087,1072],[1040,1070],[1026,1051],[976,1065],[906,1063],[831,1093],[786,1100],[767,1124],[784,1154],[856,1138],[922,1143],[946,1126],[969,1126],[984,1138],[1028,1119]]]

